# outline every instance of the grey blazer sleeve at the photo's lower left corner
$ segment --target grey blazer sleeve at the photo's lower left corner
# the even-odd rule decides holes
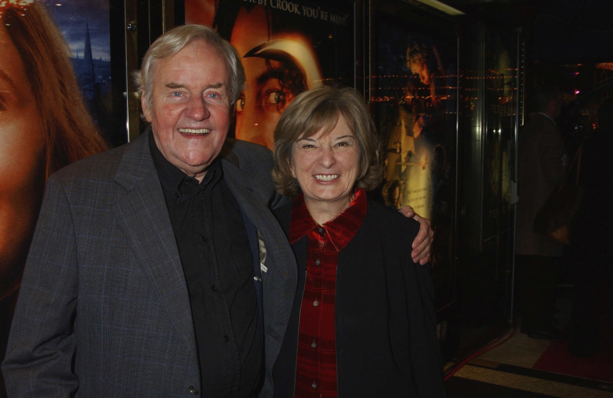
[[[63,188],[51,177],[2,363],[9,397],[68,397],[77,389],[72,372],[77,278],[70,206]]]

